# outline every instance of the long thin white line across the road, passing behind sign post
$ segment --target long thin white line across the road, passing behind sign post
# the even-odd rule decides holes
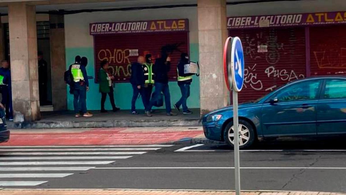
[[[234,169],[234,167],[95,167],[93,169]],[[240,169],[346,169],[346,167],[240,167]]]

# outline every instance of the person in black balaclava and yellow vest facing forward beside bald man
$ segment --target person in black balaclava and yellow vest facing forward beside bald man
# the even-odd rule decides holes
[[[149,104],[152,92],[153,92],[153,85],[155,83],[154,81],[154,73],[153,73],[153,63],[152,63],[152,55],[146,54],[145,55],[145,63],[143,63],[143,70],[144,70],[144,94],[145,94],[145,101],[146,105]]]

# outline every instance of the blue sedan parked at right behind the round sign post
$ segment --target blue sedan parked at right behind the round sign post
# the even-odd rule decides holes
[[[232,109],[218,109],[203,117],[207,138],[233,146]],[[297,80],[240,104],[238,112],[240,149],[267,137],[346,134],[346,77]]]

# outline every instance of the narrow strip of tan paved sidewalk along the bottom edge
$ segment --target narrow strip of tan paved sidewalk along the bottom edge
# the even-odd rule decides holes
[[[112,190],[112,189],[2,189],[0,195],[235,195],[233,191],[208,190]],[[250,191],[241,195],[345,195],[343,193],[329,192],[283,192],[283,191]]]

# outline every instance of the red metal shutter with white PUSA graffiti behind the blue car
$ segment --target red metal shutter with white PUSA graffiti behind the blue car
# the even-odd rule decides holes
[[[256,100],[295,79],[306,76],[304,28],[230,30],[242,40],[245,61],[239,102]]]

